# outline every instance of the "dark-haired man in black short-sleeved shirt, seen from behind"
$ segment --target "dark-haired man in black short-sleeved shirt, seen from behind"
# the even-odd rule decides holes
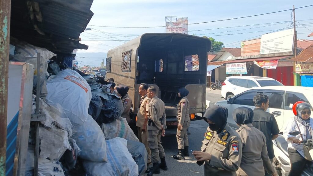
[[[263,132],[266,137],[266,148],[269,153],[269,159],[273,163],[274,148],[272,140],[276,139],[279,134],[279,128],[273,114],[266,112],[269,108],[269,97],[260,93],[253,98],[254,102],[254,116],[252,125]],[[265,172],[265,176],[271,175]]]

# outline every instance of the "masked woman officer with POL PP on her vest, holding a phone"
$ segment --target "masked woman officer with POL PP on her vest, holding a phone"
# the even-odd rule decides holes
[[[204,164],[204,175],[236,175],[241,162],[239,134],[227,123],[227,108],[211,105],[204,113],[209,127],[201,151],[193,151],[197,164]]]

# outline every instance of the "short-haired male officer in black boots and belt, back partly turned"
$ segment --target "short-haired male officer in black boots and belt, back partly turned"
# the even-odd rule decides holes
[[[153,173],[160,173],[160,168],[167,170],[164,148],[161,143],[161,135],[165,136],[165,129],[167,127],[165,104],[156,96],[156,88],[149,87],[147,93],[148,97],[151,98],[146,111],[148,112],[148,142],[151,150],[151,161],[153,163],[153,167],[147,176],[151,176]],[[161,164],[159,163],[160,158]]]

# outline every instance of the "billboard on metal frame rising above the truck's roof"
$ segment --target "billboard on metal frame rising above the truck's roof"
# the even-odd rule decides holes
[[[188,18],[165,17],[165,33],[188,34]]]

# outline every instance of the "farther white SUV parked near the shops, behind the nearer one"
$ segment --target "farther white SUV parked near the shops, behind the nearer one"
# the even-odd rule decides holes
[[[273,78],[260,76],[228,76],[222,85],[221,95],[225,100],[254,87],[283,85]]]

